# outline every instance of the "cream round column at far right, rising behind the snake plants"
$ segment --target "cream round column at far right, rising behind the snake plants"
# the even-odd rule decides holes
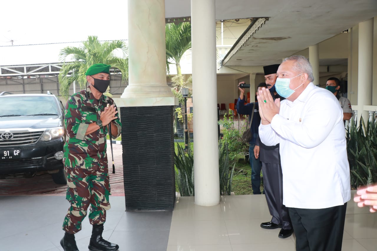
[[[363,116],[368,121],[369,113],[365,105],[372,104],[373,69],[373,18],[359,23],[359,70],[357,78],[357,121]]]

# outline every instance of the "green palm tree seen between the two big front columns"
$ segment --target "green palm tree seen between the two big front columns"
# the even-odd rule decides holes
[[[166,63],[171,64],[168,60],[174,61],[177,67],[177,75],[182,75],[179,61],[183,54],[191,48],[191,24],[185,23],[168,23],[165,26],[166,34]],[[169,68],[168,68],[169,69]]]

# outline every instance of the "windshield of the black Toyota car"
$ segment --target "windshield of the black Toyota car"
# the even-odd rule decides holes
[[[59,114],[55,98],[50,96],[4,96],[0,103],[0,117]]]

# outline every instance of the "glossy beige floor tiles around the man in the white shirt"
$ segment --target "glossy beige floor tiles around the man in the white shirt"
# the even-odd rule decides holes
[[[377,213],[357,207],[353,202],[355,192],[352,191],[347,205],[342,250],[376,251]],[[196,205],[194,197],[178,197],[167,251],[294,251],[294,234],[280,239],[280,229],[260,227],[261,222],[269,220],[271,215],[263,194],[221,196],[220,204],[213,207]]]

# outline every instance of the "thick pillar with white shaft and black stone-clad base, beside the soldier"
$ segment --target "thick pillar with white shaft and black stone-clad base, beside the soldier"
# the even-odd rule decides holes
[[[166,84],[165,1],[128,0],[129,85],[121,98],[126,211],[173,210],[173,107]]]

